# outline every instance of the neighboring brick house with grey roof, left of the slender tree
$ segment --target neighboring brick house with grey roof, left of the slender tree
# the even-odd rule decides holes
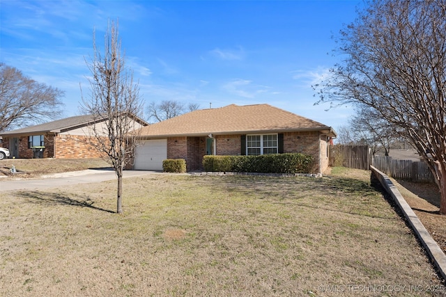
[[[91,148],[94,143],[93,127],[104,131],[107,119],[95,120],[93,115],[78,115],[44,124],[1,133],[1,146],[16,158],[96,158],[100,154]],[[134,116],[134,127],[147,122]]]

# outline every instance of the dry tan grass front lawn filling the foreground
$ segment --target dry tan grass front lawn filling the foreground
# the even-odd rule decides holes
[[[369,172],[1,193],[0,296],[443,296]]]

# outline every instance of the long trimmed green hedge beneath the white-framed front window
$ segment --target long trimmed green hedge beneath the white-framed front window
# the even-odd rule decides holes
[[[260,156],[203,156],[207,172],[310,173],[313,157],[307,154],[263,154]]]

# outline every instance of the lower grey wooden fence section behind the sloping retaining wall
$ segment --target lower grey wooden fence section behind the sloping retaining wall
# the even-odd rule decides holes
[[[435,182],[431,170],[422,161],[394,160],[391,156],[374,156],[372,165],[396,179],[412,182]]]

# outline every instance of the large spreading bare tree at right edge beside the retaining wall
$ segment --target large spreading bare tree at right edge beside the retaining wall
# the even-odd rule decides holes
[[[367,2],[341,31],[345,61],[321,83],[321,102],[370,106],[424,158],[446,214],[446,2]]]

